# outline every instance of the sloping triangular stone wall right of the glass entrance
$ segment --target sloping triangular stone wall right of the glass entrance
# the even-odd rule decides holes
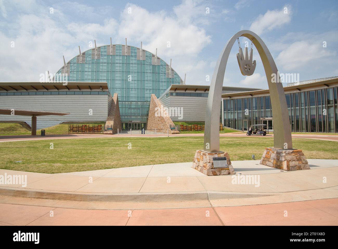
[[[160,101],[156,98],[154,94],[152,94],[149,106],[147,130],[154,131],[155,129],[157,129],[158,132],[167,133],[167,130],[169,129],[170,134],[179,133],[179,131],[177,130],[170,130],[170,124],[173,127],[174,122],[172,122],[171,118],[165,110],[163,111],[163,115],[158,115],[158,110],[161,109],[163,108],[161,108]]]

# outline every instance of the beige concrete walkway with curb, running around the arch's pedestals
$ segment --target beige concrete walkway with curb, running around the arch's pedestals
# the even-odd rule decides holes
[[[149,208],[148,202],[155,206],[168,202],[168,207],[178,208],[195,204],[175,206],[172,202],[204,201],[213,206],[239,206],[338,198],[338,160],[308,161],[310,170],[289,172],[260,165],[259,160],[233,161],[239,176],[252,175],[257,181],[246,184],[234,183],[231,175],[208,177],[192,169],[190,162],[61,174],[1,169],[0,175],[27,175],[28,184],[26,187],[0,185],[0,194],[105,202],[103,209],[107,205],[120,209]]]

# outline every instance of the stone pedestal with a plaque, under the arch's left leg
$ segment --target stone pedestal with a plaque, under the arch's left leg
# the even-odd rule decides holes
[[[227,168],[214,168],[214,157],[226,157]],[[231,165],[228,153],[208,152],[204,150],[196,150],[192,168],[202,172],[205,175],[229,175],[235,174],[234,168]]]

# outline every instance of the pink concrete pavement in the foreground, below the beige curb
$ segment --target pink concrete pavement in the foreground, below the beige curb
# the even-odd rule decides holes
[[[337,226],[338,198],[254,206],[142,210],[83,210],[0,204],[0,225]]]

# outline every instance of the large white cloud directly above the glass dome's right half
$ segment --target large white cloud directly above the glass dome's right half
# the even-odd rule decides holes
[[[129,7],[131,14],[127,14]],[[119,39],[127,37],[132,42],[143,41],[145,49],[154,51],[158,48],[158,53],[165,57],[197,56],[211,43],[211,37],[189,19],[180,21],[163,11],[151,13],[135,4],[127,4],[121,15]]]

